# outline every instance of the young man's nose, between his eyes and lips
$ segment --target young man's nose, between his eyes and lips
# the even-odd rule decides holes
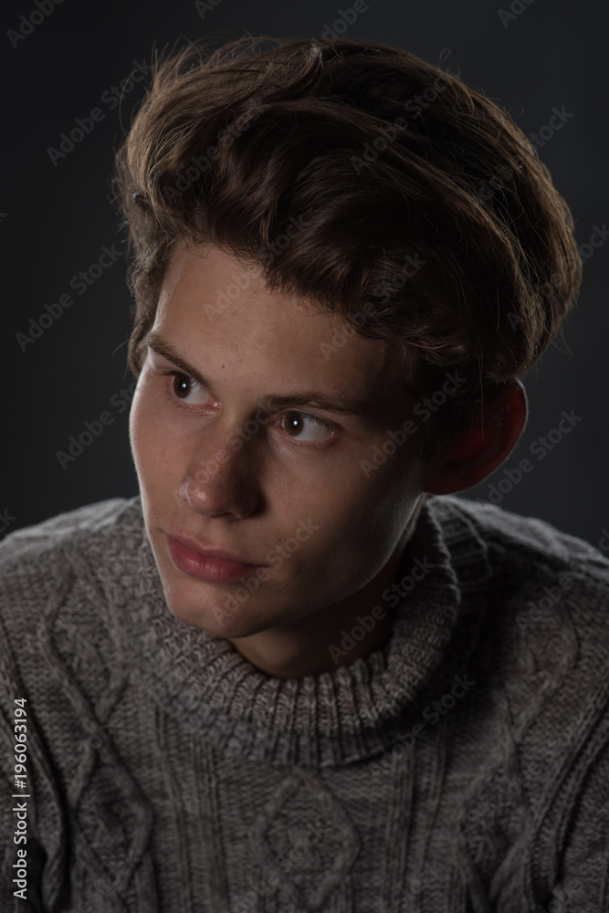
[[[239,431],[241,432],[239,434]],[[197,438],[179,498],[205,517],[246,519],[261,502],[256,435],[218,422]]]

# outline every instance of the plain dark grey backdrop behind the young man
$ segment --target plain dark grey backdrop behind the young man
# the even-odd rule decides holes
[[[50,0],[40,2],[48,7]],[[2,533],[92,501],[131,497],[138,490],[126,408],[132,377],[125,370],[131,303],[125,260],[117,260],[82,296],[72,292],[75,304],[25,352],[16,341],[17,333],[29,331],[29,319],[44,313],[45,303],[70,291],[70,278],[95,263],[104,245],[124,249],[118,216],[109,203],[108,176],[113,150],[142,89],[123,102],[121,116],[102,95],[129,76],[134,60],[150,62],[153,43],[164,47],[179,37],[202,36],[220,42],[246,33],[312,37],[340,20],[340,10],[352,7],[351,0],[215,3],[202,18],[194,3],[185,0],[159,7],[63,0],[16,47],[6,33],[18,29],[20,16],[29,16],[37,6],[34,0],[4,5]],[[583,245],[593,226],[609,220],[609,9],[601,0],[533,0],[526,5],[516,0],[511,7],[512,13],[509,3],[482,0],[371,0],[342,34],[404,47],[433,63],[441,55],[446,58],[448,48],[445,65],[460,69],[468,84],[511,110],[526,132],[547,124],[553,107],[572,112],[540,155],[572,207]],[[506,25],[501,8],[514,16]],[[103,110],[104,120],[54,166],[47,148],[57,147],[59,134],[95,107]],[[488,498],[489,485],[506,478],[505,467],[516,467],[528,456],[533,470],[504,495],[502,507],[547,519],[594,544],[609,527],[608,250],[604,244],[586,259],[583,291],[563,340],[528,377],[530,421],[519,445],[504,467],[465,494]],[[562,410],[574,410],[582,420],[540,461],[529,448],[558,425]],[[67,450],[69,437],[78,437],[84,423],[104,411],[113,423],[62,468],[57,451]],[[504,481],[503,488],[507,486]]]

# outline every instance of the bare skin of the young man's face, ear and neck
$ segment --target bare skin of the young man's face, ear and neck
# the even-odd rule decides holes
[[[344,341],[328,356],[320,343],[336,331]],[[425,493],[470,488],[503,462],[526,421],[522,385],[487,404],[473,434],[447,442],[433,461],[422,460],[413,434],[366,477],[361,461],[413,415],[392,343],[363,339],[340,316],[270,292],[256,266],[211,246],[176,250],[152,332],[206,381],[189,381],[149,348],[131,406],[144,521],[173,614],[226,637],[271,676],[332,672],[382,646],[394,620],[382,593]],[[357,400],[358,415],[294,402],[292,394],[309,391]],[[264,397],[288,394],[289,402],[259,411]],[[297,540],[298,530],[306,531]],[[167,533],[268,566],[250,583],[255,592],[202,581],[175,567]],[[298,541],[294,551],[285,549],[289,540]],[[375,605],[384,617],[346,656],[331,656],[329,647]]]

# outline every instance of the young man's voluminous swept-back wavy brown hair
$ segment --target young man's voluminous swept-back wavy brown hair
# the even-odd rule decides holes
[[[374,41],[245,37],[157,58],[114,186],[136,376],[175,245],[213,243],[394,341],[409,390],[458,369],[427,456],[539,359],[581,281],[569,208],[509,114]]]

